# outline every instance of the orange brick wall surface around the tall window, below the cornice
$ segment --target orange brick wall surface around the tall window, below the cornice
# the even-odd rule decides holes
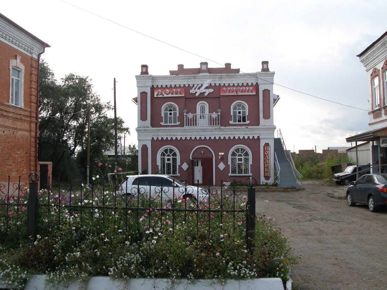
[[[28,175],[35,171],[36,99],[38,60],[0,41],[0,183],[28,185]],[[10,60],[24,65],[23,107],[10,104]]]

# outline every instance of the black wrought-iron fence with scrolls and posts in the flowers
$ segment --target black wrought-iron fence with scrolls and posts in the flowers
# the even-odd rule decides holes
[[[123,186],[106,186],[105,181],[87,185],[50,184],[38,190],[37,180],[29,188],[20,183],[0,184],[0,230],[6,235],[36,237],[55,227],[87,225],[104,229],[107,223],[121,229],[144,230],[157,226],[174,231],[188,220],[199,230],[206,222],[208,234],[214,227],[232,225],[233,232],[249,237],[255,227],[255,189],[248,189],[248,198],[241,189],[227,188],[221,182],[214,187],[160,184],[135,184],[130,192]],[[168,222],[166,222],[166,220]],[[218,225],[213,220],[220,221]],[[240,221],[240,222],[238,222]]]

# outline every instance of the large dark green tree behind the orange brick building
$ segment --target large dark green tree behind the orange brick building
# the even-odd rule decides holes
[[[89,107],[90,160],[95,160],[114,147],[114,118],[107,114],[113,107],[101,102],[89,77],[70,73],[58,82],[49,65],[41,61],[38,158],[53,162],[56,180],[84,180]],[[129,133],[121,118],[117,118],[117,131]]]

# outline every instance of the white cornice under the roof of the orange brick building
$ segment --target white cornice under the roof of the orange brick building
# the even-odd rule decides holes
[[[0,41],[36,59],[45,47],[50,47],[2,14],[0,14]]]

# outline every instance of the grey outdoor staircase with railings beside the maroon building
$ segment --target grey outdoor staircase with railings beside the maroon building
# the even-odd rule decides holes
[[[290,151],[286,150],[281,130],[277,131],[279,138],[274,138],[274,163],[277,171],[278,186],[302,187],[302,175],[293,163]]]

